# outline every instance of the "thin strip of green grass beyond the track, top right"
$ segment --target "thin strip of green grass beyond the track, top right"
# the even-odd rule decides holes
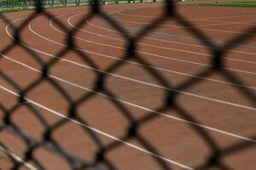
[[[230,2],[230,3],[194,3],[193,6],[213,6],[213,7],[247,7],[255,8],[256,2]]]

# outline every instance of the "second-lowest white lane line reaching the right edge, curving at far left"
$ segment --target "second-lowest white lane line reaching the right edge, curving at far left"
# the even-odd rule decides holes
[[[22,19],[22,18],[21,18]],[[21,20],[21,19],[18,19],[18,20]],[[15,22],[16,20],[14,20],[13,22]],[[5,31],[7,32],[7,34],[9,35],[9,37],[12,37],[12,35],[9,33],[9,25],[5,27]],[[41,35],[38,34],[39,37],[42,37],[44,38],[45,40],[48,40],[49,42],[55,42],[53,40],[50,40],[49,38],[46,38],[46,37],[43,37]],[[14,37],[12,37],[14,38]],[[59,42],[55,42],[57,44],[60,44],[61,46],[64,46],[64,47],[67,47],[66,45],[63,45]],[[49,57],[52,57],[52,58],[56,58],[56,59],[59,59],[58,57],[56,57],[55,55],[53,54],[48,54],[44,51],[41,51],[41,50],[38,50],[36,48],[32,48],[30,46],[27,46],[25,43],[21,43],[20,42],[20,45],[23,45],[24,47],[26,48],[30,48],[32,49],[33,51],[36,51],[38,52],[39,54],[44,54],[44,55],[47,55]],[[240,108],[243,108],[243,109],[247,109],[247,110],[252,110],[252,111],[256,111],[256,108],[255,107],[251,107],[251,106],[247,106],[247,105],[239,105],[239,104],[235,104],[235,103],[232,103],[232,102],[228,102],[228,101],[224,101],[224,100],[220,100],[220,99],[213,99],[213,98],[209,98],[209,97],[206,97],[206,96],[202,96],[202,95],[198,95],[198,94],[191,94],[189,92],[184,92],[184,91],[181,91],[181,90],[177,90],[175,88],[168,88],[168,87],[164,87],[164,86],[161,86],[161,85],[157,85],[157,84],[154,84],[154,83],[150,83],[150,82],[143,82],[143,81],[140,81],[140,80],[137,80],[137,79],[133,79],[131,77],[123,77],[123,76],[120,76],[120,75],[117,75],[117,74],[114,74],[114,73],[110,73],[110,72],[107,72],[107,71],[102,71],[102,70],[99,70],[99,69],[96,69],[96,68],[93,68],[93,67],[90,67],[88,65],[84,65],[84,64],[81,64],[81,63],[77,63],[73,60],[69,60],[69,59],[64,59],[66,60],[67,62],[69,63],[72,63],[73,65],[79,65],[81,67],[84,67],[84,68],[87,68],[87,69],[90,69],[92,71],[97,71],[97,72],[102,72],[103,74],[106,74],[106,75],[110,75],[110,76],[113,76],[113,77],[119,77],[121,79],[125,79],[125,80],[128,80],[128,81],[131,81],[131,82],[138,82],[138,83],[141,83],[141,84],[144,84],[144,85],[147,85],[147,86],[151,86],[151,87],[154,87],[154,88],[162,88],[162,89],[165,89],[165,90],[170,90],[170,91],[173,91],[173,92],[176,92],[178,94],[186,94],[186,95],[189,95],[191,97],[195,97],[195,98],[198,98],[198,99],[204,99],[204,100],[209,100],[209,101],[213,101],[213,102],[217,102],[217,103],[221,103],[221,104],[224,104],[224,105],[232,105],[232,106],[236,106],[236,107],[240,107]]]

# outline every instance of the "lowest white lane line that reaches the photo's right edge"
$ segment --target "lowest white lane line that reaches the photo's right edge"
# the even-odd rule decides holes
[[[5,59],[8,59],[10,61],[13,61],[14,63],[18,64],[18,65],[22,65],[24,67],[26,67],[27,69],[30,69],[32,71],[35,71],[35,72],[38,72],[38,73],[42,73],[42,71],[39,71],[29,65],[26,65],[20,61],[17,61],[15,59],[11,59],[9,58],[8,56],[4,55],[4,54],[0,54],[2,55]],[[147,111],[148,114],[157,114],[157,115],[160,115],[160,116],[165,116],[166,118],[169,118],[169,119],[173,119],[173,120],[176,120],[178,122],[183,122],[183,123],[188,123],[190,125],[193,125],[193,126],[197,126],[197,127],[202,127],[202,128],[206,128],[207,130],[210,130],[210,131],[213,131],[213,132],[216,132],[216,133],[222,133],[222,134],[225,134],[225,135],[228,135],[228,136],[231,136],[231,137],[234,137],[234,138],[237,138],[237,139],[242,139],[242,140],[247,140],[247,141],[250,141],[250,142],[253,142],[253,143],[256,143],[256,140],[255,139],[249,139],[247,137],[243,137],[243,136],[240,136],[240,135],[237,135],[235,133],[229,133],[229,132],[226,132],[224,130],[220,130],[218,128],[214,128],[214,127],[208,127],[206,125],[202,125],[202,124],[199,124],[199,123],[196,123],[196,122],[189,122],[188,120],[185,120],[185,119],[182,119],[182,118],[179,118],[177,116],[171,116],[171,115],[167,115],[165,113],[162,113],[160,111],[154,111],[154,110],[151,110],[151,109],[148,109],[146,107],[143,107],[141,105],[136,105],[136,104],[132,104],[128,101],[125,101],[125,100],[122,100],[122,99],[118,99],[118,98],[113,98],[111,96],[108,96],[107,94],[102,94],[100,92],[96,92],[90,88],[85,88],[83,86],[80,86],[79,84],[76,84],[76,83],[73,83],[73,82],[68,82],[67,80],[64,80],[64,79],[61,79],[60,77],[55,77],[53,75],[49,75],[49,77],[59,81],[59,82],[64,82],[64,83],[67,83],[68,85],[70,86],[73,86],[73,87],[76,87],[76,88],[79,88],[79,89],[82,89],[82,90],[85,90],[87,92],[90,92],[90,93],[93,93],[93,94],[97,94],[99,96],[102,96],[103,98],[107,98],[107,99],[113,99],[113,100],[116,100],[122,104],[125,104],[125,105],[130,105],[131,107],[134,107],[134,108],[137,108],[137,109],[140,109],[140,110],[143,110],[143,111]]]

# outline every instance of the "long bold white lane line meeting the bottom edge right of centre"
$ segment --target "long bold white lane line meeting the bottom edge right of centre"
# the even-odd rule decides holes
[[[16,94],[15,92],[9,90],[8,88],[4,88],[4,87],[1,86],[1,85],[0,85],[0,88],[1,88],[2,90],[4,90],[4,91],[8,92],[9,94],[13,94],[13,95],[15,95],[15,96],[17,96],[17,97],[20,97],[19,94]],[[140,151],[142,151],[142,152],[144,152],[144,153],[146,153],[146,154],[148,154],[148,155],[150,155],[150,156],[157,157],[157,158],[159,158],[159,159],[162,160],[162,161],[169,162],[169,163],[171,163],[171,164],[173,164],[173,165],[176,165],[176,166],[178,166],[178,167],[183,167],[183,168],[185,168],[185,169],[193,170],[192,167],[188,167],[188,166],[186,166],[186,165],[184,165],[184,164],[182,164],[182,163],[178,163],[177,161],[173,161],[173,160],[168,159],[168,158],[166,158],[166,157],[164,157],[164,156],[157,155],[157,154],[155,154],[154,152],[151,152],[151,151],[149,151],[149,150],[145,150],[145,149],[143,149],[143,148],[137,146],[136,144],[128,143],[128,142],[126,142],[126,141],[124,141],[124,140],[121,140],[121,139],[119,139],[119,138],[117,138],[117,137],[114,137],[114,136],[112,136],[112,135],[110,135],[110,134],[108,134],[108,133],[105,133],[105,132],[103,132],[103,131],[101,131],[101,130],[99,130],[99,129],[96,129],[95,127],[90,127],[90,126],[88,126],[88,125],[86,125],[86,124],[84,124],[84,123],[82,123],[82,122],[79,122],[79,121],[76,121],[76,120],[74,120],[74,119],[72,119],[72,118],[69,118],[68,116],[63,115],[63,114],[61,114],[61,113],[58,112],[58,111],[54,111],[54,110],[50,109],[49,107],[46,107],[45,105],[41,105],[41,104],[39,104],[39,103],[33,101],[32,99],[28,99],[28,98],[25,98],[25,99],[28,100],[28,101],[30,101],[30,103],[31,103],[32,105],[36,105],[36,106],[38,106],[39,108],[44,109],[45,111],[49,111],[49,112],[55,114],[56,116],[61,116],[62,118],[66,119],[66,120],[68,120],[68,121],[70,121],[70,122],[76,123],[76,124],[78,124],[78,125],[81,126],[81,127],[88,128],[88,129],[90,129],[91,131],[93,131],[93,132],[95,132],[95,133],[99,133],[99,134],[101,134],[102,136],[105,136],[105,137],[107,137],[107,138],[109,138],[109,139],[113,139],[113,140],[115,140],[115,141],[118,141],[119,143],[125,144],[125,145],[127,145],[127,146],[129,146],[129,147],[131,147],[131,148],[133,148],[133,149],[135,149],[135,150],[140,150]]]

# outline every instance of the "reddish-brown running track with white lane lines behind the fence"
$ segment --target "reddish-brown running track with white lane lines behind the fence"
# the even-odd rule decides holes
[[[104,11],[114,20],[118,20],[130,34],[139,31],[143,26],[160,16],[161,4],[110,5]],[[157,10],[159,9],[159,10]],[[247,27],[254,26],[256,12],[250,8],[204,8],[181,6],[179,13],[195,24],[210,37],[213,43],[222,44],[236,36],[247,35]],[[206,13],[206,10],[209,12]],[[124,37],[99,17],[88,19],[88,8],[50,9],[55,18],[48,19],[38,15],[31,20],[21,32],[20,47],[16,46],[7,54],[2,54],[1,71],[26,87],[40,77],[42,66],[22,47],[32,50],[39,56],[40,62],[50,59],[59,60],[49,70],[49,77],[64,88],[73,100],[82,94],[95,94],[94,97],[79,105],[79,116],[90,125],[69,120],[70,123],[55,131],[54,138],[61,146],[73,155],[85,157],[91,161],[97,151],[95,142],[90,139],[81,126],[94,131],[104,144],[115,141],[123,143],[108,154],[116,167],[120,169],[157,169],[159,165],[150,157],[152,152],[143,147],[137,140],[122,141],[125,130],[129,126],[127,118],[111,101],[118,101],[139,119],[148,114],[158,115],[154,121],[146,122],[140,127],[139,133],[158,150],[161,160],[166,161],[174,169],[193,169],[205,163],[206,157],[212,152],[206,139],[192,128],[201,127],[209,135],[219,149],[224,149],[247,141],[252,143],[247,150],[240,150],[233,155],[224,157],[224,164],[231,169],[255,169],[255,122],[256,105],[252,99],[242,94],[238,88],[247,88],[255,96],[256,90],[256,45],[255,34],[250,35],[247,42],[230,49],[224,56],[224,70],[241,80],[242,83],[230,82],[221,74],[209,77],[199,75],[201,71],[211,68],[212,55],[204,46],[202,39],[193,36],[175,20],[167,20],[137,42],[137,54],[147,63],[123,58],[126,44]],[[31,12],[8,14],[9,20],[19,26]],[[239,18],[237,15],[239,14]],[[76,29],[73,35],[76,50],[59,55],[67,48],[67,32],[57,26],[60,20],[67,29]],[[76,27],[79,20],[86,24]],[[13,41],[13,30],[9,24],[1,20],[0,36],[4,39],[1,51]],[[96,65],[90,65],[80,55],[89,56]],[[22,57],[21,57],[22,56]],[[61,57],[61,58],[60,58]],[[125,65],[109,72],[109,65],[122,60]],[[168,87],[152,77],[145,68],[152,68],[165,77]],[[106,88],[109,94],[94,91],[96,73],[108,75]],[[201,79],[201,82],[185,90],[179,90],[183,82],[189,79]],[[0,102],[7,108],[15,104],[17,94],[9,82],[0,79]],[[177,105],[187,111],[193,121],[185,120],[177,111],[157,111],[166,98],[166,90],[176,91]],[[28,103],[34,105],[42,116],[52,124],[67,118],[68,102],[49,83],[44,82],[33,88],[26,95]],[[44,127],[27,111],[20,107],[14,118],[21,129],[27,134],[41,139]],[[75,133],[74,133],[75,132]],[[25,150],[19,139],[1,133],[1,142],[7,144],[16,156],[22,158]],[[67,169],[64,160],[44,150],[38,150],[36,156],[47,169]],[[10,164],[3,156],[0,157],[3,169]]]

